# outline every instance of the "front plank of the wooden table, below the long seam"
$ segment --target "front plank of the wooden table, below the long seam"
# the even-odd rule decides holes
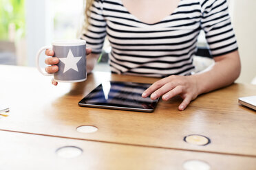
[[[1,169],[182,169],[187,160],[203,160],[211,169],[255,169],[255,158],[195,151],[138,147],[69,138],[0,131]],[[2,139],[4,136],[4,140]],[[75,158],[56,154],[60,147],[76,146]],[[246,168],[245,168],[246,167]]]

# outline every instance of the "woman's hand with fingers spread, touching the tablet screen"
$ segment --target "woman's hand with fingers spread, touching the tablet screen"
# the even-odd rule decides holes
[[[198,97],[198,91],[198,84],[195,77],[171,75],[152,84],[145,90],[142,97],[151,95],[151,99],[157,99],[162,96],[163,100],[168,100],[175,95],[180,95],[183,101],[179,106],[179,110],[184,110],[191,100]]]

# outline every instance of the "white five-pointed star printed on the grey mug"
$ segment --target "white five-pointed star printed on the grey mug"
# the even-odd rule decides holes
[[[61,60],[61,62],[63,62],[65,64],[63,73],[65,73],[66,71],[68,71],[70,69],[73,69],[78,72],[78,68],[77,68],[76,64],[78,63],[79,60],[81,60],[81,58],[82,58],[82,56],[74,57],[71,49],[67,53],[67,58],[58,58],[59,60]]]

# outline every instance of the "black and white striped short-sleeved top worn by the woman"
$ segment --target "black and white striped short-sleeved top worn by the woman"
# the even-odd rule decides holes
[[[237,49],[226,0],[180,0],[172,14],[153,24],[138,20],[121,0],[95,0],[90,10],[89,26],[81,38],[93,53],[100,53],[107,35],[114,73],[189,75],[201,29],[213,57]]]

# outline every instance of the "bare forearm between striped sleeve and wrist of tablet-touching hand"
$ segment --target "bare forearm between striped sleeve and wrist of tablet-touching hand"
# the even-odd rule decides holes
[[[202,73],[191,75],[198,86],[198,95],[232,84],[241,71],[238,51],[214,58],[215,64]]]

